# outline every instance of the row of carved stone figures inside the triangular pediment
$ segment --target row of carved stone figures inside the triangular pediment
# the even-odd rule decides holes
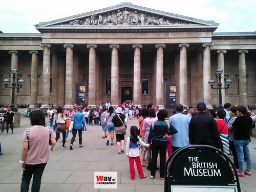
[[[81,19],[57,25],[80,25],[80,26],[161,26],[161,25],[188,25],[184,20],[167,18],[154,13],[129,11],[127,8],[116,11],[93,14]]]

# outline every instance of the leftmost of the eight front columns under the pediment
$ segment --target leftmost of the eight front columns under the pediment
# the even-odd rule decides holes
[[[44,48],[44,56],[42,59],[42,105],[45,108],[50,104],[50,64],[51,64],[51,51],[50,44],[41,44],[40,47]]]

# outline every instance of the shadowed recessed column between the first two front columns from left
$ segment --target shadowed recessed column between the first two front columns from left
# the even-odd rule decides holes
[[[56,52],[52,55],[52,96],[51,96],[51,104],[54,107],[58,106],[58,62],[59,57]]]

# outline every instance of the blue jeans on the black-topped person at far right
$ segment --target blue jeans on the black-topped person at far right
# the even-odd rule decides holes
[[[236,147],[238,155],[239,172],[244,173],[244,157],[247,161],[247,172],[251,172],[251,157],[249,151],[249,140],[236,140],[234,139],[234,146]]]

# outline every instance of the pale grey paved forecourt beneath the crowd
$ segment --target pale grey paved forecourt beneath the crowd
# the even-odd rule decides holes
[[[20,127],[14,128],[14,134],[0,135],[4,153],[0,156],[0,191],[20,191],[23,170],[18,161],[22,150],[22,135],[25,129],[30,127],[28,118],[21,117],[20,125]],[[129,120],[127,127],[131,125],[138,126],[136,118]],[[126,137],[128,135],[130,134],[127,132]],[[106,139],[102,139],[101,126],[89,125],[88,133],[82,133],[84,147],[79,148],[77,137],[73,151],[69,150],[71,137],[72,135],[69,134],[66,149],[62,150],[62,142],[57,141],[54,150],[50,151],[50,160],[42,176],[40,191],[164,191],[164,180],[160,180],[159,171],[157,171],[155,179],[152,180],[150,172],[143,167],[147,178],[140,179],[136,169],[136,179],[130,179],[128,158],[125,154],[117,154],[116,144],[106,145]],[[249,147],[252,176],[239,179],[242,191],[254,192],[256,191],[256,138],[252,138]],[[94,172],[101,171],[117,172],[117,189],[94,188]]]

